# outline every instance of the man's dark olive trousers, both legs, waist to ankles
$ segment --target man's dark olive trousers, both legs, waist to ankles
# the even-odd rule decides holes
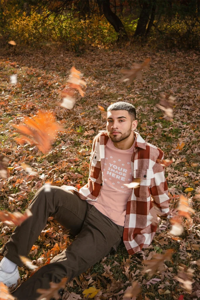
[[[29,209],[33,215],[16,227],[3,250],[3,254],[17,265],[23,265],[19,255],[28,256],[50,216],[77,236],[49,265],[40,268],[16,289],[13,295],[18,300],[35,300],[39,296],[36,290],[49,288],[50,281],[57,283],[63,277],[72,280],[116,251],[122,240],[123,226],[115,224],[94,205],[61,187],[52,186],[50,192],[42,187]]]

